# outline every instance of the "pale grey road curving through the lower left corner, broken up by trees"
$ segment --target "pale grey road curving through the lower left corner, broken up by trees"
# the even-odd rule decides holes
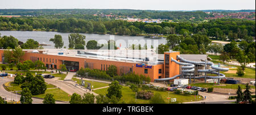
[[[0,78],[0,96],[5,98],[7,100],[15,100],[15,101],[19,101],[20,100],[20,95],[16,95],[14,93],[11,93],[9,91],[6,91],[5,88],[3,87],[3,84],[5,84],[6,82],[12,82],[14,79],[13,78]],[[32,104],[42,104],[43,100],[42,99],[35,99],[32,97]],[[55,101],[56,104],[66,104],[66,103],[62,103],[59,101]]]

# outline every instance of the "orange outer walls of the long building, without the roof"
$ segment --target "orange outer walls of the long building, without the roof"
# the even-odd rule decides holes
[[[102,71],[107,71],[110,65],[114,65],[117,67],[118,75],[133,72],[135,74],[149,76],[151,78],[151,82],[154,82],[154,79],[169,78],[179,74],[179,65],[177,65],[175,62],[171,62],[171,58],[176,59],[176,56],[180,54],[179,52],[165,52],[164,63],[156,65],[100,58],[43,54],[42,51],[39,51],[39,53],[32,53],[23,50],[23,52],[25,52],[24,56],[22,57],[23,61],[28,59],[33,62],[40,60],[44,63],[44,65],[46,65],[47,68],[53,69],[59,69],[59,66],[63,64],[64,61],[79,63],[79,65],[77,65],[77,68],[79,69],[81,69],[81,67],[88,67],[90,69],[98,69]],[[0,58],[0,62],[3,62],[3,50],[0,50],[0,54],[2,56],[2,58]]]

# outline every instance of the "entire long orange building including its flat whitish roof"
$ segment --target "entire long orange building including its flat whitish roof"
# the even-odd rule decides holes
[[[0,50],[4,63],[4,50]],[[179,52],[156,54],[152,50],[68,50],[43,49],[23,50],[23,61],[30,59],[42,61],[47,68],[59,69],[61,64],[68,70],[79,70],[81,67],[107,71],[110,65],[117,67],[117,74],[135,73],[154,79],[170,78],[180,74],[180,67],[171,58],[176,59]],[[184,55],[183,55],[184,56]],[[206,55],[205,55],[206,56]]]

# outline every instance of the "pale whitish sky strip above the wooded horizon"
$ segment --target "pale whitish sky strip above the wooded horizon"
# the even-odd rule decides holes
[[[0,0],[0,9],[255,10],[255,0]]]

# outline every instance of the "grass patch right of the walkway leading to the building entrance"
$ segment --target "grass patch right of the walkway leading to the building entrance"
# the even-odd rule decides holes
[[[81,84],[81,79],[72,78],[72,80],[76,81],[76,83]],[[91,80],[85,80],[85,87],[87,87],[87,83],[90,83],[90,86],[93,86],[93,88],[100,88],[100,87],[106,87],[109,86],[108,83],[102,83],[102,82],[93,82]]]

